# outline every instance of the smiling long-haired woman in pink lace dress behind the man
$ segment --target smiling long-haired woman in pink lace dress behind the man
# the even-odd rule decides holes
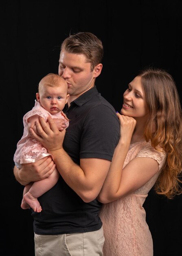
[[[98,200],[103,204],[105,256],[152,256],[153,243],[143,203],[156,193],[182,193],[182,110],[175,82],[149,68],[123,94],[120,140]]]

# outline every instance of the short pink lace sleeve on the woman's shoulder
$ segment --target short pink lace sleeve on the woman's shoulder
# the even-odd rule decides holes
[[[151,144],[146,144],[141,148],[136,157],[149,157],[156,160],[159,164],[159,170],[162,168],[166,159],[166,153],[156,150]]]

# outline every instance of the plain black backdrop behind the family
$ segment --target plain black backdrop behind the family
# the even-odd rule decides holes
[[[182,98],[181,0],[7,0],[0,2],[1,223],[0,255],[34,256],[33,219],[22,210],[23,186],[13,176],[13,155],[23,115],[34,106],[37,84],[58,72],[61,42],[78,31],[104,46],[96,86],[120,111],[123,92],[136,72],[154,65],[172,74]],[[153,190],[144,204],[154,256],[182,255],[182,196]],[[147,255],[146,255],[147,256]]]

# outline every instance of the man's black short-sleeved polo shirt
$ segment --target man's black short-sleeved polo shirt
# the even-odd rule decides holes
[[[120,134],[116,111],[94,86],[64,109],[70,124],[63,147],[72,160],[112,160]],[[60,176],[57,184],[39,197],[41,213],[32,211],[34,232],[54,235],[95,231],[101,228],[101,203],[85,203]]]

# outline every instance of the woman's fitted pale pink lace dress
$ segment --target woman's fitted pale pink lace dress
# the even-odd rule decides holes
[[[153,256],[153,242],[143,203],[160,174],[166,155],[155,150],[150,142],[141,141],[130,145],[124,166],[134,157],[155,159],[159,171],[134,193],[103,204],[100,218],[105,236],[104,256]]]

